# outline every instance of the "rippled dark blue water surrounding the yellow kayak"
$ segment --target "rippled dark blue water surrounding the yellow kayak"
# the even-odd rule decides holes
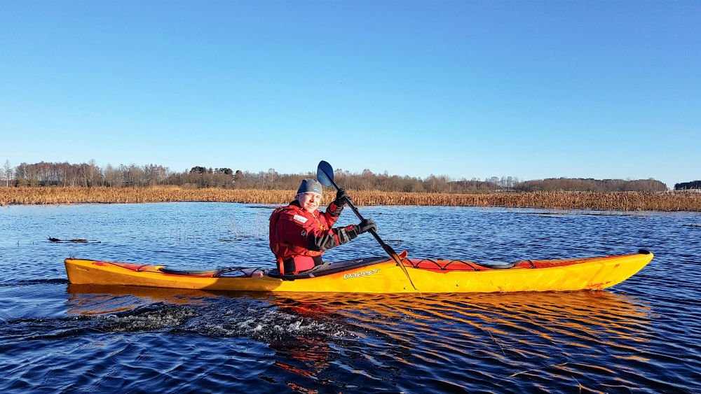
[[[414,258],[550,259],[639,248],[655,258],[599,292],[422,297],[69,286],[69,256],[271,267],[271,209],[3,207],[0,392],[701,393],[701,227],[690,226],[701,224],[697,214],[361,211]],[[339,224],[355,221],[347,211]],[[381,254],[364,235],[325,260]]]

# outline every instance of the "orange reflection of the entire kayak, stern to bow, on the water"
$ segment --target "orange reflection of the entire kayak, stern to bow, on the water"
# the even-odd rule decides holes
[[[340,322],[351,327],[352,337],[374,333],[403,344],[414,342],[417,336],[450,336],[460,342],[483,341],[484,335],[505,337],[518,343],[533,338],[551,340],[548,335],[553,332],[567,333],[576,342],[601,335],[636,339],[650,314],[649,307],[636,298],[607,291],[456,293],[421,297],[416,294],[273,294],[69,285],[67,293],[67,313],[79,315],[128,311],[156,302],[196,306],[213,299],[237,303],[254,300],[268,309],[300,319]],[[261,308],[260,304],[255,308]],[[206,316],[203,318],[206,321]],[[439,332],[436,332],[437,326]],[[313,330],[304,331],[308,332]]]

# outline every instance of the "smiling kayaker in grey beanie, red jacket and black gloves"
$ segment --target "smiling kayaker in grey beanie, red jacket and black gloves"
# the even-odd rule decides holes
[[[358,225],[333,227],[350,197],[339,189],[336,199],[325,212],[321,204],[322,185],[311,178],[304,179],[297,196],[289,205],[273,211],[270,216],[270,249],[275,254],[280,274],[292,275],[322,264],[321,255],[330,248],[346,244],[358,235],[377,230],[371,219]]]

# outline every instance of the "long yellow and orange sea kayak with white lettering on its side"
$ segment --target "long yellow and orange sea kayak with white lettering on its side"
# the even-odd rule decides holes
[[[472,262],[409,259],[401,267],[386,257],[325,262],[298,275],[277,269],[228,267],[205,271],[67,258],[68,280],[75,285],[147,286],[200,290],[306,293],[504,293],[519,291],[601,290],[645,267],[653,253],[562,260]]]

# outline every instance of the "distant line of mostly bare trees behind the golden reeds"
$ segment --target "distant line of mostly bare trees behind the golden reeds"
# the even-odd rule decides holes
[[[11,167],[8,162],[0,169],[2,186],[63,186],[63,187],[144,187],[154,185],[177,185],[184,188],[224,188],[257,190],[296,190],[303,178],[313,178],[315,173],[279,174],[274,169],[250,172],[230,168],[207,168],[196,166],[189,170],[171,171],[157,164],[137,166],[107,164],[98,167],[95,160],[88,163],[68,162],[22,163]],[[336,181],[349,190],[379,190],[384,192],[533,192],[533,191],[590,191],[590,192],[660,192],[667,190],[664,183],[654,179],[584,179],[547,178],[537,181],[519,181],[512,176],[493,176],[479,180],[456,181],[448,176],[430,175],[426,178],[375,174],[369,169],[362,173],[336,170]],[[677,183],[686,188],[700,188],[701,181]]]

